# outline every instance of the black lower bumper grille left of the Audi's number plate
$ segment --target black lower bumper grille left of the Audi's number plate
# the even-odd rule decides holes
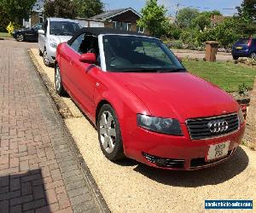
[[[147,153],[143,153],[143,156],[152,164],[156,164],[159,167],[166,168],[184,168],[185,160],[183,159],[171,159],[171,158],[159,158]]]

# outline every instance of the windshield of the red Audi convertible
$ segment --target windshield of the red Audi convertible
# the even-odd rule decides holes
[[[105,35],[103,46],[108,72],[186,72],[159,39]]]

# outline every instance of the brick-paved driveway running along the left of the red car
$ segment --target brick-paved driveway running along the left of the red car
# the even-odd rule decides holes
[[[27,47],[0,41],[0,212],[101,212]]]

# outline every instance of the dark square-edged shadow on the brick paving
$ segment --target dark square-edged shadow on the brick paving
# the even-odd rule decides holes
[[[41,170],[0,176],[0,213],[34,212],[39,209],[49,213],[47,204]]]

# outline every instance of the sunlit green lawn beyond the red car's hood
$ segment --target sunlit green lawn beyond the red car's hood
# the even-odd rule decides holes
[[[183,61],[190,73],[218,85],[227,92],[238,91],[242,83],[253,89],[256,68],[247,68],[231,62]]]

